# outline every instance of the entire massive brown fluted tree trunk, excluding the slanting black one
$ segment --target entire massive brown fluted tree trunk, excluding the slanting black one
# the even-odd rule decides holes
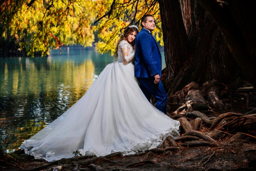
[[[222,33],[196,0],[159,0],[168,95],[192,81],[230,83],[243,77]]]

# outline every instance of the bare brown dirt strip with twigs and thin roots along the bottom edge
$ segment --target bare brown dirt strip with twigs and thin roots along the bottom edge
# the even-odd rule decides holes
[[[256,143],[222,140],[213,146],[179,147],[165,151],[150,150],[134,156],[111,154],[105,157],[75,157],[48,163],[23,155],[15,161],[1,162],[1,170],[47,171],[214,171],[256,170]]]

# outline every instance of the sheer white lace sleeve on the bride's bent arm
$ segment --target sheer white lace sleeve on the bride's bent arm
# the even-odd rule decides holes
[[[123,63],[125,64],[129,63],[135,55],[135,52],[132,46],[125,40],[121,41],[119,46],[123,54]]]

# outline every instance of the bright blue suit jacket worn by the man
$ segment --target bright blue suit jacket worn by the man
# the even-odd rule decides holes
[[[141,29],[135,39],[135,77],[161,78],[162,58],[156,40],[146,29]]]

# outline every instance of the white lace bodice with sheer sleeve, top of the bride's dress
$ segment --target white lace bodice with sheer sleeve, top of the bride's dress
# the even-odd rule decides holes
[[[135,49],[126,40],[122,40],[118,47],[118,62],[129,63],[135,56]],[[125,61],[124,61],[125,60]]]

